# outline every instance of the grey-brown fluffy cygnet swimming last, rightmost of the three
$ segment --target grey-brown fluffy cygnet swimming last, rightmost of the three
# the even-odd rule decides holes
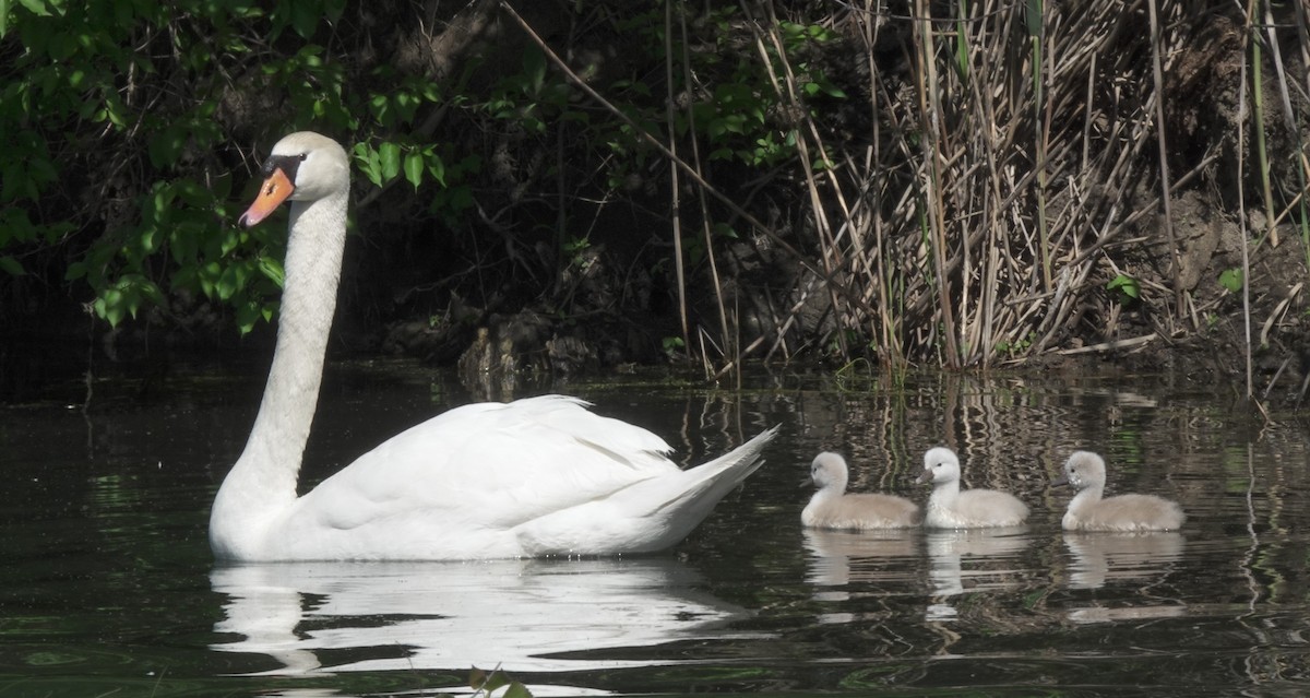
[[[1106,489],[1106,462],[1091,451],[1074,451],[1065,461],[1064,476],[1052,484],[1068,484],[1077,492],[1064,516],[1066,531],[1176,530],[1187,518],[1176,503],[1154,495],[1100,499]]]

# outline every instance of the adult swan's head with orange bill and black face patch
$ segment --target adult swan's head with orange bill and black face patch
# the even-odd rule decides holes
[[[350,188],[350,159],[335,140],[313,131],[293,133],[263,163],[259,195],[237,222],[249,228],[283,201],[316,201]]]

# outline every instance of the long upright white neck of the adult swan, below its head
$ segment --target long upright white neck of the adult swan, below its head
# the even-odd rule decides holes
[[[347,192],[291,203],[278,345],[245,450],[219,488],[210,542],[220,558],[249,558],[296,500],[296,479],[318,403],[324,356],[346,247]]]

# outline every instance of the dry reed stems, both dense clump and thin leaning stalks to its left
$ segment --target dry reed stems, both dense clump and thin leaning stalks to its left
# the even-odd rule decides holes
[[[1254,62],[1260,43],[1275,46],[1272,5],[1251,0],[1246,16],[1204,5],[1244,28],[1241,55],[1229,56],[1242,66],[1235,117],[1242,126],[1226,143],[1209,143],[1188,159],[1174,152],[1180,144],[1166,139],[1162,126],[1176,110],[1169,101],[1176,98],[1169,92],[1172,76],[1204,29],[1193,18],[1201,3],[1089,0],[1072,8],[979,0],[951,7],[955,14],[934,16],[947,5],[914,0],[904,17],[889,14],[880,0],[866,0],[833,10],[831,29],[862,42],[867,56],[862,92],[872,114],[870,130],[848,142],[816,123],[806,105],[796,67],[783,50],[778,8],[772,0],[740,3],[755,38],[751,58],[768,76],[779,110],[794,115],[785,127],[796,143],[796,193],[808,203],[808,219],[798,226],[807,232],[798,239],[783,239],[718,192],[701,168],[694,140],[690,161],[684,161],[680,152],[686,148],[677,151],[629,125],[696,188],[702,220],[709,220],[705,205],[714,197],[808,272],[794,287],[757,304],[776,329],[766,341],[741,349],[732,349],[738,342],[730,302],[717,287],[719,327],[709,335],[684,329],[697,333],[702,358],[713,350],[730,365],[752,352],[786,358],[804,348],[789,344],[789,337],[811,348],[836,344],[850,358],[863,350],[857,342],[846,345],[854,331],[888,365],[988,366],[1068,353],[1074,337],[1086,341],[1081,353],[1110,352],[1124,346],[1120,332],[1171,341],[1179,327],[1196,331],[1204,324],[1201,314],[1214,303],[1199,302],[1182,286],[1172,202],[1189,189],[1216,186],[1214,171],[1233,169],[1225,159],[1235,156],[1239,201],[1235,213],[1224,213],[1241,220],[1244,234],[1243,174],[1263,184],[1268,172],[1267,163],[1246,172],[1243,129],[1263,138],[1262,115],[1246,106],[1246,91],[1268,68]],[[1023,14],[1028,7],[1040,13],[1031,25]],[[1310,63],[1307,12],[1296,12],[1302,66]],[[1256,30],[1255,17],[1262,17],[1263,30]],[[671,21],[665,18],[667,28]],[[1151,30],[1142,31],[1144,25]],[[899,64],[878,54],[888,31],[903,37]],[[570,80],[622,118],[541,46]],[[1282,121],[1296,133],[1290,94],[1297,83],[1280,54],[1268,52]],[[683,60],[685,68],[689,60]],[[675,80],[672,66],[665,77]],[[690,84],[692,76],[681,77]],[[1310,75],[1302,77],[1310,92]],[[1259,98],[1256,92],[1258,108]],[[1303,174],[1310,173],[1306,160],[1303,150],[1296,154]],[[1305,206],[1303,180],[1301,189],[1280,206],[1273,206],[1272,192],[1264,193],[1267,230]],[[702,232],[713,251],[707,228]],[[1162,273],[1150,274],[1151,258],[1162,260]],[[1251,264],[1243,258],[1246,279]],[[718,269],[710,274],[717,279]],[[1129,314],[1106,289],[1117,274],[1138,277],[1154,328],[1144,329],[1141,319],[1131,327]],[[686,281],[680,277],[679,283]],[[1250,371],[1248,290],[1243,302]],[[816,315],[820,327],[807,327]]]

